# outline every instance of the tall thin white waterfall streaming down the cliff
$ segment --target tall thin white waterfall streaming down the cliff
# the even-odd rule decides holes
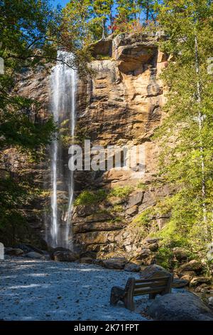
[[[58,51],[58,63],[50,76],[51,111],[58,133],[52,143],[51,155],[51,227],[48,242],[52,247],[72,249],[72,232],[70,231],[74,177],[68,170],[68,149],[62,145],[60,135],[75,135],[75,93],[77,73],[67,66],[72,63],[72,54]],[[70,143],[71,144],[71,143]],[[68,199],[67,199],[68,194]]]

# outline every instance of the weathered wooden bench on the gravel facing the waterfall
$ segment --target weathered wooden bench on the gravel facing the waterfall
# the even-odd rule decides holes
[[[133,297],[149,294],[149,299],[155,299],[157,294],[167,294],[171,292],[173,274],[167,277],[152,279],[129,278],[126,287],[112,287],[110,304],[116,305],[119,300],[124,302],[127,309],[135,309]]]

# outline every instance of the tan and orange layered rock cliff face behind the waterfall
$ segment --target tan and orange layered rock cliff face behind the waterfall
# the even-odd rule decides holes
[[[92,145],[104,148],[143,145],[145,152],[145,173],[138,177],[132,170],[115,168],[75,172],[76,197],[84,190],[95,194],[106,190],[104,197],[76,205],[72,217],[75,247],[95,252],[98,257],[121,255],[141,264],[151,264],[158,239],[148,238],[148,234],[155,232],[156,227],[161,229],[166,220],[166,217],[149,217],[142,230],[136,223],[138,215],[155,205],[159,197],[170,193],[168,187],[156,186],[159,150],[152,136],[163,118],[165,88],[159,74],[167,66],[167,57],[158,50],[157,41],[158,36],[120,34],[95,43],[94,61],[90,64],[94,74],[78,82],[77,142],[90,139]],[[48,90],[48,76],[42,71],[36,76],[23,76],[18,87],[24,96],[40,100],[43,105],[40,118],[48,115]],[[65,150],[65,168],[68,159]],[[45,163],[36,169],[30,167],[46,192],[36,205],[36,215],[28,210],[28,220],[43,238],[45,225],[50,222],[49,168],[48,154]]]

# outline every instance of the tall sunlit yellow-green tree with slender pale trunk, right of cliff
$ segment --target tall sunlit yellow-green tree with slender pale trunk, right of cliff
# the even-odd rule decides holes
[[[158,19],[167,41],[161,48],[174,61],[163,73],[170,87],[162,140],[160,164],[165,182],[176,192],[160,204],[171,218],[162,234],[170,243],[183,242],[206,253],[212,242],[212,76],[207,73],[213,52],[212,3],[205,0],[163,1]],[[168,145],[170,138],[175,145]],[[179,241],[179,242],[178,242]]]

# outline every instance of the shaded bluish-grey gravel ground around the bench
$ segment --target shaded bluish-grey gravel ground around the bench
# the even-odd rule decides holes
[[[0,261],[0,319],[143,321],[148,296],[136,300],[136,311],[109,305],[111,287],[131,276],[90,264],[7,258]]]

